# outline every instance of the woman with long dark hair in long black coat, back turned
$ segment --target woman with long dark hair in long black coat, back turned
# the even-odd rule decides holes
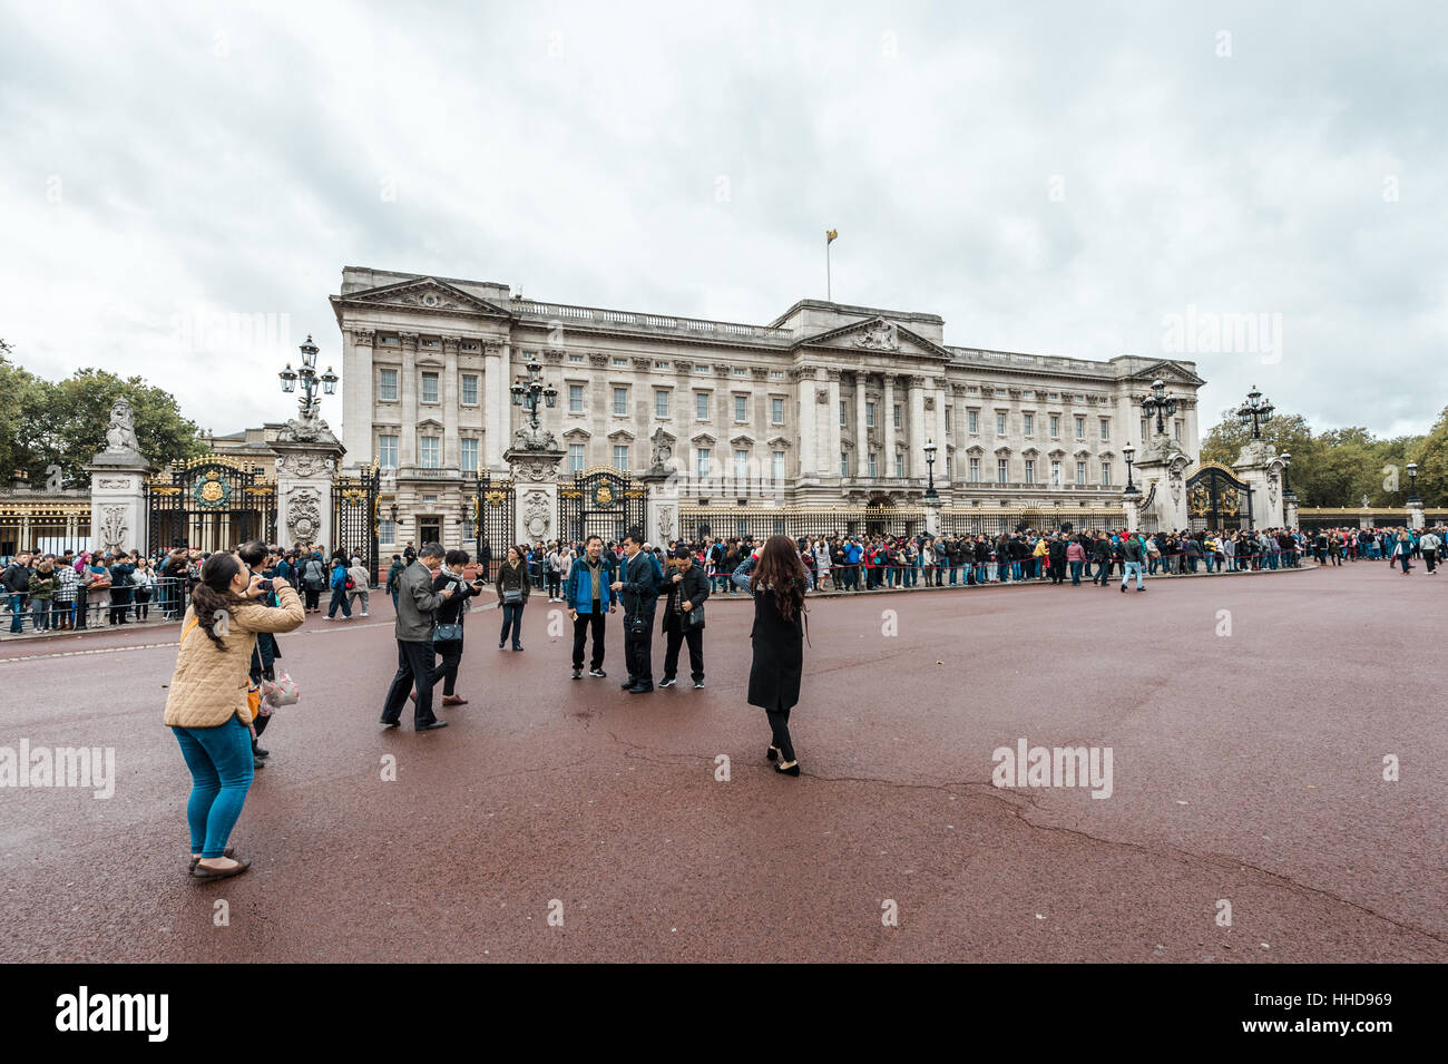
[[[765,757],[775,772],[799,774],[799,760],[789,740],[789,711],[799,702],[805,664],[805,589],[809,573],[788,536],[772,536],[759,557],[734,570],[734,583],[754,595],[754,662],[749,670],[749,704],[769,718],[773,741]],[[778,759],[778,760],[776,760]]]

